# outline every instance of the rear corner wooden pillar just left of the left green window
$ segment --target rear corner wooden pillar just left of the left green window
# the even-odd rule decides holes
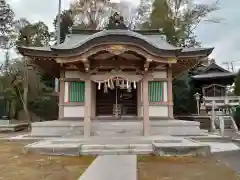
[[[65,96],[65,72],[61,70],[60,72],[60,91],[58,93],[59,96],[59,103],[58,103],[58,119],[63,119],[64,118],[64,96]]]

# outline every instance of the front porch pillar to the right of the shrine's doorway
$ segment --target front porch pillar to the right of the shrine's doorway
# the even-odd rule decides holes
[[[149,102],[148,102],[148,79],[147,75],[143,76],[143,135],[149,135],[150,121],[149,121]]]

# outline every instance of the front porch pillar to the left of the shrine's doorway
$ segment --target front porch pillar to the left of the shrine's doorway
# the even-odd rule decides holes
[[[85,80],[85,113],[84,113],[84,137],[89,137],[91,133],[91,101],[92,101],[92,82]]]

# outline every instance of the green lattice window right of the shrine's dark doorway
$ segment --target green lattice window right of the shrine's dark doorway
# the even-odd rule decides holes
[[[163,82],[151,81],[148,83],[148,100],[149,102],[163,101]]]

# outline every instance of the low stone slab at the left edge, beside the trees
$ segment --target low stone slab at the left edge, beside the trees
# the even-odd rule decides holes
[[[16,120],[0,120],[0,132],[16,132],[28,128],[29,123]]]

